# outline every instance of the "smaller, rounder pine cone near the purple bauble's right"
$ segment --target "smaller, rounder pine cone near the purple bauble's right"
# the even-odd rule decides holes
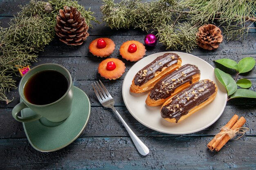
[[[217,49],[223,38],[219,27],[213,24],[200,26],[197,35],[198,46],[207,50]]]

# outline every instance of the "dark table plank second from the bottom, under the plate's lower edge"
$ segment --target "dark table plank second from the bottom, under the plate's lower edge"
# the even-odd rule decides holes
[[[132,128],[132,130],[138,136],[179,136],[164,134],[155,130],[151,130],[150,128],[147,128],[146,126],[140,124],[134,117],[132,117],[126,107],[116,108],[119,111],[120,115],[130,126],[130,128]],[[200,132],[182,136],[216,135],[220,131],[220,128],[227,124],[229,119],[231,119],[234,114],[237,114],[239,117],[243,116],[247,120],[244,127],[249,128],[249,131],[246,132],[246,136],[256,136],[255,110],[256,106],[226,106],[220,119],[218,119],[213,125]],[[0,113],[0,139],[26,137],[22,127],[22,123],[16,121],[12,117],[11,109],[0,109]],[[112,110],[103,107],[92,107],[91,113],[92,114],[88,121],[88,125],[86,126],[85,130],[83,130],[83,133],[80,135],[80,137],[128,137],[126,129],[121,124],[115,113],[112,112]]]

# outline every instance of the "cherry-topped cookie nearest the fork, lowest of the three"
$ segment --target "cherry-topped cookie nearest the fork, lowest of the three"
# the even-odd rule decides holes
[[[117,58],[108,58],[103,60],[98,67],[98,72],[101,77],[106,79],[118,79],[125,72],[126,66],[124,66],[124,62]]]

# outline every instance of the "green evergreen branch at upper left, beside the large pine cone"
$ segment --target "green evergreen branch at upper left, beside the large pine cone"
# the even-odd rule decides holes
[[[64,6],[76,7],[88,25],[97,22],[90,9],[85,10],[77,1],[49,0],[53,11],[45,11],[47,2],[31,0],[20,7],[21,11],[9,23],[9,28],[0,27],[0,100],[12,101],[6,93],[16,88],[12,79],[18,68],[36,61],[37,53],[52,41],[55,35],[56,15]]]

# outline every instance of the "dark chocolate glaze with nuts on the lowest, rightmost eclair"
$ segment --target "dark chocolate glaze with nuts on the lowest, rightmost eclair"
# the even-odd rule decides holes
[[[175,118],[177,123],[180,117],[188,114],[189,110],[209,99],[215,91],[214,82],[208,79],[191,84],[190,87],[175,95],[172,102],[162,107],[161,116],[163,118]]]

